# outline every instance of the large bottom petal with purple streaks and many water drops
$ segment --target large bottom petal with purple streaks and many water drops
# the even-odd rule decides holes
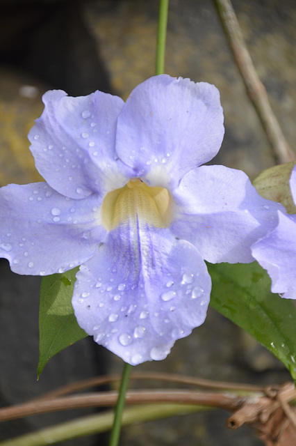
[[[206,317],[206,265],[195,247],[167,229],[118,226],[76,278],[79,325],[131,364],[163,360]]]

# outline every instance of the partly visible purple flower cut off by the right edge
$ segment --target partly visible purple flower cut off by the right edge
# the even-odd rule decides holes
[[[290,190],[296,203],[296,167],[290,177]],[[296,299],[296,214],[279,212],[279,224],[252,246],[252,254],[268,271],[272,279],[272,293]]]

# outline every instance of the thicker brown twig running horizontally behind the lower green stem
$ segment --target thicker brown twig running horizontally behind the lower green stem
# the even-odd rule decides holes
[[[56,412],[58,410],[114,406],[116,401],[117,392],[98,392],[58,399],[29,401],[28,403],[0,409],[0,422],[24,418],[30,415],[40,415],[41,413]],[[185,403],[223,408],[231,412],[240,408],[244,401],[245,397],[236,395],[192,392],[192,390],[147,390],[128,392],[126,394],[126,404]]]

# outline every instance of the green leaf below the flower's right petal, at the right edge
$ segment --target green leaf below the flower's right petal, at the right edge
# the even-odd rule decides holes
[[[270,291],[270,278],[257,262],[208,264],[211,306],[268,348],[296,380],[296,310],[292,300]]]

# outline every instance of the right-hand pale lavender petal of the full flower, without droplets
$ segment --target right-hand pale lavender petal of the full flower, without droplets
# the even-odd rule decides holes
[[[283,206],[261,197],[247,175],[224,166],[190,171],[173,192],[171,230],[211,263],[254,261],[251,245],[277,225]]]

